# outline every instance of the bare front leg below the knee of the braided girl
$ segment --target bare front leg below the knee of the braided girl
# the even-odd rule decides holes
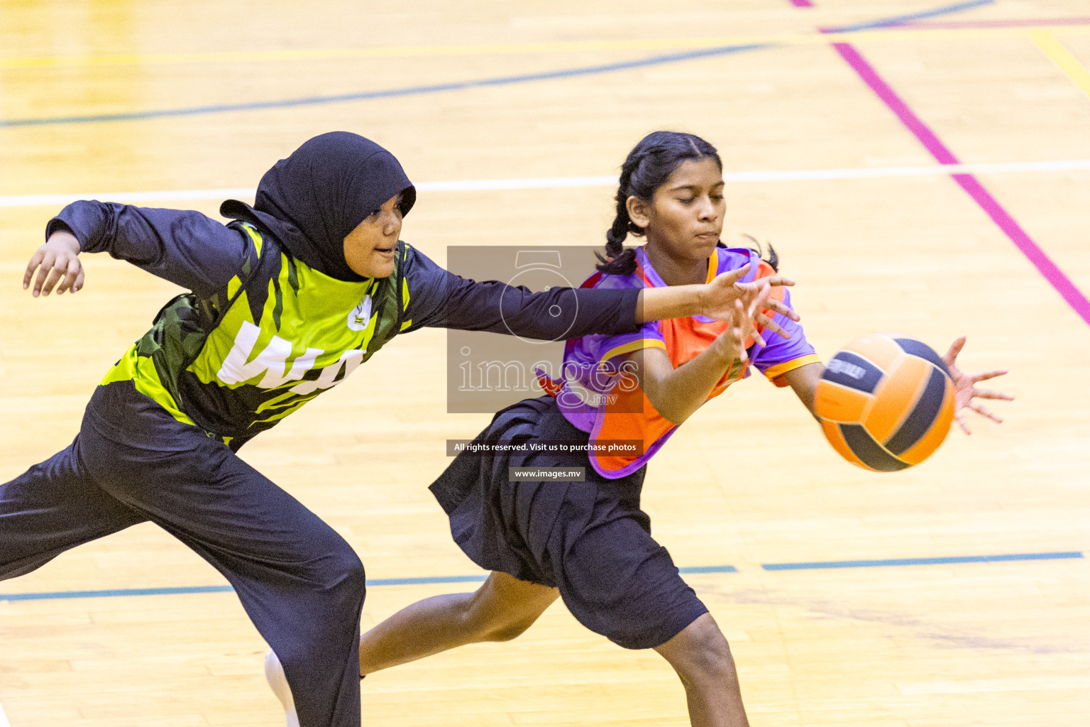
[[[692,727],[749,727],[730,646],[704,614],[655,651],[685,684]]]

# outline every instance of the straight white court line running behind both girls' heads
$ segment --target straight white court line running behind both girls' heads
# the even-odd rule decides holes
[[[789,169],[783,171],[727,171],[727,182],[791,182],[832,179],[871,179],[875,177],[931,177],[942,174],[1002,174],[1009,172],[1055,172],[1090,169],[1090,159],[1055,161],[1004,161],[995,163],[929,165],[925,167],[871,167],[856,169]],[[421,182],[420,192],[481,192],[488,190],[556,190],[579,186],[614,186],[616,177],[534,177],[529,179],[452,180]],[[83,194],[26,194],[0,196],[0,207],[66,205],[76,199],[147,203],[194,199],[253,198],[253,187],[218,190],[168,190],[164,192],[95,192]],[[3,727],[0,724],[0,727]]]

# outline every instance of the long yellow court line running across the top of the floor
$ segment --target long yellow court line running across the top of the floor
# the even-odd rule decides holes
[[[617,50],[685,50],[718,46],[768,44],[780,46],[824,45],[831,38],[853,41],[918,40],[1025,36],[1051,29],[1090,33],[1090,25],[1040,25],[1000,28],[885,28],[835,34],[739,35],[713,38],[667,38],[649,40],[574,40],[558,43],[485,44],[472,46],[403,46],[395,48],[315,48],[299,50],[254,50],[204,53],[147,53],[112,56],[49,56],[0,58],[0,69],[72,68],[90,65],[152,65],[164,63],[216,63],[234,61],[298,61],[337,58],[404,58],[412,56],[487,56],[498,53],[556,53]]]

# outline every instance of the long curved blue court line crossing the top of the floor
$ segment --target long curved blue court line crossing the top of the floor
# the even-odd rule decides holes
[[[826,33],[847,33],[850,31],[865,31],[870,28],[891,27],[904,25],[913,21],[940,15],[949,15],[971,10],[980,5],[992,3],[994,0],[972,0],[971,2],[959,2],[953,5],[943,5],[934,10],[927,10],[908,15],[896,15],[844,27],[829,28]],[[618,63],[602,63],[597,65],[586,65],[574,69],[560,69],[557,71],[545,71],[542,73],[523,73],[519,75],[498,76],[492,78],[476,78],[471,81],[456,81],[451,83],[428,84],[423,86],[408,86],[404,88],[387,88],[384,90],[366,90],[353,94],[336,94],[331,96],[304,96],[301,98],[287,98],[272,101],[251,101],[245,104],[218,104],[211,106],[192,106],[174,109],[158,109],[150,111],[129,111],[122,113],[96,113],[89,116],[68,116],[68,117],[37,117],[28,119],[4,119],[0,120],[0,129],[13,129],[17,126],[45,126],[55,124],[76,124],[76,123],[99,123],[109,121],[146,121],[149,119],[167,119],[191,116],[205,116],[210,113],[230,113],[233,111],[259,111],[265,109],[282,109],[301,106],[325,106],[329,104],[346,104],[349,101],[363,101],[377,98],[396,98],[400,96],[421,96],[425,94],[437,94],[448,90],[464,90],[468,88],[486,88],[489,86],[509,86],[520,83],[531,83],[534,81],[550,81],[556,78],[570,78],[584,75],[596,75],[601,73],[611,73],[614,71],[626,71],[629,69],[646,68],[650,65],[664,65],[667,63],[678,63],[700,58],[714,58],[718,56],[729,56],[750,50],[761,50],[763,48],[779,47],[778,44],[762,43],[739,46],[719,46],[716,48],[703,48],[681,53],[666,53],[663,56],[652,56],[632,61],[621,61]]]

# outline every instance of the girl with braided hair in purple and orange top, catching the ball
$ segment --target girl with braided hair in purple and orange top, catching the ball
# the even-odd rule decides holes
[[[497,413],[474,440],[485,453],[468,448],[431,486],[455,541],[492,573],[475,593],[425,598],[363,634],[360,674],[513,639],[560,597],[592,631],[662,654],[681,678],[694,727],[748,725],[727,641],[640,509],[647,461],[702,404],[756,368],[812,410],[823,371],[798,316],[785,310],[794,283],[775,275],[775,256],[719,242],[723,186],[718,154],[698,136],[655,132],[628,155],[608,257],[583,287],[663,290],[725,272],[756,287],[730,320],[698,315],[569,340],[561,380],[543,380],[549,396]],[[629,234],[646,244],[626,250]],[[953,365],[950,373],[960,409],[979,377]],[[632,453],[504,447],[564,441],[585,451],[589,443],[632,440],[642,444]],[[583,468],[585,482],[509,482],[509,468]],[[267,674],[290,724],[291,693],[271,654]]]

